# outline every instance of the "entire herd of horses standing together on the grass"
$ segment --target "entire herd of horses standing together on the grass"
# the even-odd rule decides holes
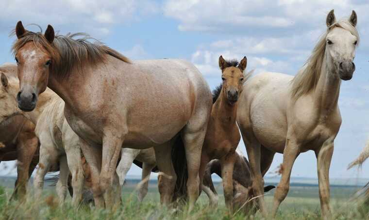
[[[284,157],[275,216],[296,157],[313,150],[322,216],[328,218],[329,167],[341,125],[338,96],[341,80],[355,70],[356,23],[354,11],[336,20],[332,10],[327,30],[295,77],[252,76],[246,57],[237,62],[220,56],[222,83],[212,94],[191,63],[132,62],[88,35],[55,35],[50,25],[44,33],[28,31],[19,21],[12,47],[17,64],[0,66],[0,160],[18,160],[13,196],[24,197],[38,164],[36,198],[46,173],[60,171],[60,203],[68,189],[75,206],[91,190],[96,206],[110,208],[120,204],[135,163],[142,167],[140,201],[150,173],[159,172],[162,204],[185,199],[191,211],[202,190],[216,205],[211,174],[217,173],[231,212],[257,207],[268,216],[263,194],[274,187],[264,187],[263,177],[278,152]],[[236,150],[241,137],[248,159]]]

